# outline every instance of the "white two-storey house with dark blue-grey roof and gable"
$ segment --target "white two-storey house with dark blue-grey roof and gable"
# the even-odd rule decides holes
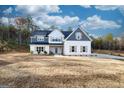
[[[38,30],[31,33],[33,54],[90,55],[91,38],[80,27],[75,31]]]

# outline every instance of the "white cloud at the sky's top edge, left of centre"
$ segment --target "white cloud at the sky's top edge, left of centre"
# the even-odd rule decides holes
[[[18,5],[16,11],[21,11],[23,14],[31,16],[62,12],[57,5]]]

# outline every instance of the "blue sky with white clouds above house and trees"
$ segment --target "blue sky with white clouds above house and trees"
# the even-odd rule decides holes
[[[76,29],[81,25],[96,37],[108,33],[114,36],[124,34],[124,6],[0,6],[2,21],[7,23],[5,14],[13,15],[13,20],[15,16],[30,15],[41,29],[55,25],[66,30],[68,27]]]

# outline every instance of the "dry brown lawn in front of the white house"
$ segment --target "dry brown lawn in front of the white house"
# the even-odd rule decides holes
[[[1,54],[0,87],[124,87],[124,61],[85,56]]]

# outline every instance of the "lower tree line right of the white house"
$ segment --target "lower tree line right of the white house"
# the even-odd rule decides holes
[[[124,50],[124,36],[114,38],[111,33],[103,37],[93,38],[93,49],[100,50]]]

